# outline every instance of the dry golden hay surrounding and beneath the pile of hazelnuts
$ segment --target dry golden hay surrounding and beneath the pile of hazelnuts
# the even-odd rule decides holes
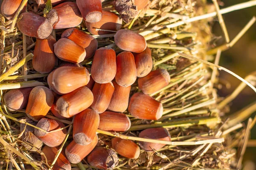
[[[102,3],[103,8],[115,12],[111,1],[105,0]],[[35,39],[22,35],[15,28],[17,16],[26,2],[27,0],[23,0],[13,20],[6,21],[1,16],[0,169],[51,169],[46,162],[41,161],[40,154],[43,154],[41,150],[33,146],[26,147],[29,143],[21,141],[23,131],[20,132],[20,123],[33,126],[26,122],[25,111],[9,112],[3,105],[3,96],[7,89],[47,85],[48,74],[39,74],[32,68],[31,59]],[[132,124],[128,132],[97,131],[98,146],[110,147],[113,136],[134,141],[166,144],[161,150],[153,153],[141,150],[140,157],[136,160],[120,157],[116,169],[210,170],[241,168],[250,129],[256,123],[256,118],[249,119],[247,126],[241,122],[255,111],[255,104],[236,113],[238,117],[246,113],[246,116],[240,116],[239,119],[237,116],[231,116],[228,119],[221,115],[227,113],[227,104],[241,92],[245,85],[251,85],[254,76],[251,74],[245,80],[241,79],[243,82],[238,89],[222,100],[214,88],[218,84],[218,71],[215,66],[221,68],[218,66],[221,51],[232,47],[255,22],[255,17],[253,17],[238,36],[229,41],[221,14],[255,6],[256,0],[221,10],[218,8],[216,0],[213,2],[214,4],[206,4],[201,0],[151,0],[150,5],[140,11],[138,17],[123,26],[123,28],[129,28],[145,37],[148,47],[152,51],[154,69],[164,68],[169,71],[171,81],[166,88],[151,95],[163,103],[164,115],[160,120],[140,120],[128,115]],[[36,11],[43,15],[47,10],[44,11],[43,8],[38,8],[35,3],[29,1],[28,11]],[[209,23],[216,15],[221,28],[223,28],[227,44],[212,48],[212,44],[209,42],[214,37]],[[87,31],[83,23],[78,28]],[[56,30],[56,37],[60,37],[62,32],[63,30]],[[108,45],[115,48],[116,51],[120,51],[113,43],[113,35],[94,37],[97,38],[99,47]],[[215,57],[213,54],[216,53],[215,65],[206,62],[212,62],[212,57]],[[82,64],[90,68],[91,62],[92,59],[88,59]],[[251,88],[254,87],[251,85]],[[135,83],[131,88],[131,94],[137,91],[139,89]],[[51,113],[47,117],[57,119]],[[70,136],[72,136],[73,120],[60,121],[64,122],[65,128],[68,128],[68,133],[58,153],[72,140]],[[138,137],[140,130],[151,127],[167,128],[172,141],[157,141]],[[233,149],[236,146],[239,146],[238,152]],[[72,168],[73,170],[84,170],[89,168],[89,165],[86,161],[82,161],[79,164],[72,164]],[[93,169],[93,167],[90,168]]]

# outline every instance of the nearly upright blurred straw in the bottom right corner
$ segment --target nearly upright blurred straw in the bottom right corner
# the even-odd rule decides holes
[[[237,169],[241,169],[241,165],[242,165],[242,160],[243,160],[243,157],[244,157],[244,153],[245,153],[245,150],[246,150],[246,147],[247,147],[247,142],[248,142],[248,139],[249,139],[249,136],[250,136],[250,124],[252,122],[252,119],[249,118],[248,119],[248,123],[247,123],[247,128],[246,128],[246,131],[245,131],[245,135],[244,135],[244,140],[242,142],[242,147],[241,147],[241,150],[239,152],[239,160],[238,160],[238,163],[236,165],[236,168]]]

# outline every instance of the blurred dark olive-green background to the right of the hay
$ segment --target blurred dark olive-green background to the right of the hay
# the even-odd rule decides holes
[[[232,6],[238,3],[247,2],[248,0],[222,0],[224,3],[222,7]],[[209,3],[212,3],[209,1]],[[222,4],[221,4],[222,5]],[[245,8],[239,11],[233,11],[228,14],[224,14],[224,21],[227,26],[227,31],[230,36],[230,40],[239,33],[239,31],[247,24],[247,22],[256,15],[256,6]],[[214,22],[213,34],[215,36],[222,36],[221,40],[217,42],[218,45],[224,44],[223,33],[219,23]],[[241,77],[245,77],[253,71],[256,71],[256,24],[241,37],[241,39],[227,51],[221,53],[221,59],[219,65],[235,72]],[[224,85],[219,89],[219,96],[227,96],[239,85],[240,80],[227,74],[224,71],[220,72],[220,78],[230,83],[230,88],[226,88]],[[248,104],[256,101],[256,94],[250,88],[245,88],[244,91],[231,103],[230,113],[239,111]],[[253,113],[251,117],[254,117],[256,113]],[[245,121],[247,123],[247,120]],[[256,126],[251,131],[251,139],[256,139]],[[244,165],[254,162],[256,164],[256,147],[247,147],[244,156]],[[256,167],[250,167],[250,169],[244,170],[256,170]]]

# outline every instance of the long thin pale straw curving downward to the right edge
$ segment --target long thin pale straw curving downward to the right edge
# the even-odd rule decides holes
[[[211,62],[207,62],[203,59],[199,59],[199,58],[196,58],[196,57],[193,57],[193,56],[189,56],[187,54],[183,54],[183,53],[179,53],[177,52],[181,57],[185,57],[185,58],[188,58],[188,59],[193,59],[193,60],[196,60],[196,61],[200,61],[200,62],[203,62],[204,64],[207,64],[207,65],[211,65],[211,66],[214,66],[214,67],[217,67],[219,70],[224,70],[226,71],[227,73],[233,75],[234,77],[236,77],[237,79],[241,80],[242,82],[244,82],[245,84],[247,84],[251,89],[253,89],[253,91],[256,93],[256,88],[251,85],[249,82],[247,82],[245,79],[241,78],[239,75],[233,73],[232,71],[228,70],[227,68],[224,68],[224,67],[221,67],[219,65],[215,65],[215,64],[212,64]]]

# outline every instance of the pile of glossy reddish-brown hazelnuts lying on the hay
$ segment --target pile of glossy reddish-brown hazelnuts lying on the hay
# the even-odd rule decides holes
[[[131,140],[120,138],[112,139],[111,149],[96,147],[98,128],[118,132],[129,130],[131,121],[123,113],[127,108],[135,118],[159,119],[163,114],[163,106],[149,94],[166,87],[170,76],[163,69],[151,71],[153,61],[145,38],[133,31],[121,29],[122,19],[117,14],[102,10],[101,0],[76,0],[76,3],[63,1],[52,0],[54,7],[46,18],[24,12],[17,22],[23,34],[37,38],[33,68],[41,74],[49,73],[49,88],[37,86],[13,89],[4,96],[4,103],[10,111],[26,108],[26,115],[32,119],[28,120],[37,122],[38,128],[28,130],[28,136],[33,135],[33,139],[27,142],[43,142],[43,152],[51,164],[67,134],[61,119],[74,116],[73,141],[67,145],[65,152],[61,152],[52,168],[54,170],[70,170],[70,162],[79,163],[86,156],[88,163],[94,167],[114,169],[118,164],[116,153],[137,159],[140,147],[145,151],[159,150],[164,144],[140,142],[139,147]],[[13,8],[20,2],[14,0]],[[44,6],[46,0],[37,2]],[[4,0],[1,8],[10,6],[9,3],[9,0]],[[10,12],[5,14],[11,15]],[[98,49],[98,42],[93,36],[72,28],[82,20],[87,30],[94,35],[116,31],[114,41],[123,52],[116,55],[112,48]],[[51,35],[52,29],[60,28],[69,29],[56,41]],[[79,64],[91,57],[93,61],[90,69]],[[66,63],[56,68],[57,60]],[[129,98],[131,85],[137,77],[138,88],[142,92]],[[45,117],[49,111],[56,119]],[[162,127],[143,130],[139,137],[170,141],[168,131]],[[40,148],[40,142],[34,146]],[[42,159],[45,159],[44,156]]]

